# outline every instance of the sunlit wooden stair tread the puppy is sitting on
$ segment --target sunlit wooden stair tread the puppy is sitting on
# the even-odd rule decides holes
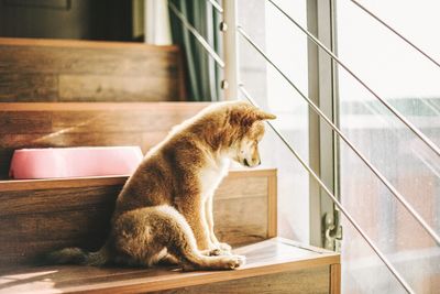
[[[0,293],[145,292],[224,282],[340,262],[338,253],[283,238],[239,247],[246,265],[233,271],[182,272],[176,268],[40,266],[2,270]]]

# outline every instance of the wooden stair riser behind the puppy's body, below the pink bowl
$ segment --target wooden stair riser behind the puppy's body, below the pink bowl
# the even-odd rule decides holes
[[[0,268],[63,247],[100,248],[127,178],[0,181]],[[276,236],[276,170],[231,171],[213,207],[222,241]]]

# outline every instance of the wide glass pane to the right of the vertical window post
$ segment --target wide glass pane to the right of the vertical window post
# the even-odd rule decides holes
[[[440,2],[360,1],[437,59]],[[398,9],[397,9],[398,8]],[[354,73],[430,140],[440,144],[440,68],[351,1],[338,1],[338,53]],[[440,160],[381,102],[339,67],[343,132],[440,233]],[[343,205],[417,293],[440,288],[440,250],[377,177],[341,143]],[[366,243],[343,222],[345,293],[402,293]],[[381,274],[378,274],[378,272]],[[371,279],[367,279],[371,277]]]

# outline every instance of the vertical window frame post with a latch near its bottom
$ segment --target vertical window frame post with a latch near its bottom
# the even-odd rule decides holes
[[[333,0],[307,1],[308,30],[328,47],[334,47]],[[321,111],[336,121],[337,83],[332,59],[309,40],[309,96]],[[319,171],[322,182],[332,190],[338,189],[337,137],[331,128],[309,112],[309,161]],[[334,193],[338,195],[338,193]],[[338,249],[340,238],[339,215],[334,205],[314,179],[310,179],[310,242],[330,250]]]

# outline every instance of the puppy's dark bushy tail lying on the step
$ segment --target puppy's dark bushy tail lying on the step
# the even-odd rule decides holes
[[[88,252],[80,248],[64,248],[50,252],[44,257],[45,264],[81,264],[100,266],[110,262],[110,254],[106,246],[96,252]]]

